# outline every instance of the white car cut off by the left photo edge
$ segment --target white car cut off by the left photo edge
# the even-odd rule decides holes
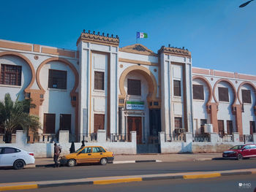
[[[23,169],[27,164],[34,164],[34,153],[17,147],[0,147],[0,166]]]

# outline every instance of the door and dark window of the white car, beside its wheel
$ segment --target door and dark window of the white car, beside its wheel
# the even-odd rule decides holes
[[[4,147],[1,153],[1,166],[12,166],[14,161],[18,158],[19,150],[12,147]]]

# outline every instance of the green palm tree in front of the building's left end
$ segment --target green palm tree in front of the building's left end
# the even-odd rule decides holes
[[[35,107],[31,99],[23,101],[12,101],[10,93],[6,93],[4,101],[0,101],[0,128],[4,129],[4,141],[12,142],[12,131],[23,128],[24,131],[31,130],[37,134],[40,127],[39,118],[29,115],[29,109]]]

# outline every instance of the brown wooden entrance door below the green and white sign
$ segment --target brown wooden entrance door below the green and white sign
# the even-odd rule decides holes
[[[141,126],[141,117],[127,117],[127,131],[128,138],[131,141],[131,131],[137,132],[137,143],[142,142],[142,126]]]

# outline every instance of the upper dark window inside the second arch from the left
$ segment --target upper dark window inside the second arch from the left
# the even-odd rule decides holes
[[[67,89],[67,71],[49,69],[48,88]]]

